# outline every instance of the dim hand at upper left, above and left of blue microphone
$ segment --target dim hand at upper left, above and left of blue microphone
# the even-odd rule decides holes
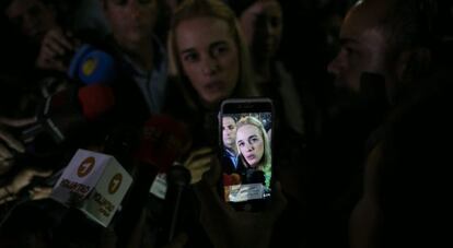
[[[76,42],[72,35],[61,28],[53,28],[46,33],[40,44],[36,67],[43,70],[56,70],[66,72],[68,70],[67,58],[76,50]]]

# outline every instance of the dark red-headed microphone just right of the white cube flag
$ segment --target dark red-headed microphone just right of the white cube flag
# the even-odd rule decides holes
[[[163,115],[151,117],[140,131],[135,158],[138,162],[135,180],[116,224],[118,247],[126,247],[149,200],[152,182],[158,174],[166,173],[187,150],[188,134],[181,122]],[[160,199],[152,209],[162,206]],[[156,210],[158,214],[161,210]]]

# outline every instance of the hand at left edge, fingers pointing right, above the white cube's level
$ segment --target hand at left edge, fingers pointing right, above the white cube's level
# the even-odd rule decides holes
[[[36,122],[35,117],[26,119],[0,117],[0,141],[3,141],[0,143],[0,175],[8,172],[14,164],[14,152],[11,150],[19,153],[25,152],[24,145],[5,129],[5,126],[25,127],[34,122]]]

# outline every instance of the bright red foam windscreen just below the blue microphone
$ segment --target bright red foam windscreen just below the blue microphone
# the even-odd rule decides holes
[[[79,90],[79,101],[86,120],[97,118],[115,105],[113,90],[101,84],[81,87]]]

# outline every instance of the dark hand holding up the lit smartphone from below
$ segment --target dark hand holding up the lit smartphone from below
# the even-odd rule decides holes
[[[216,185],[221,176],[217,157],[195,185],[200,201],[200,222],[214,247],[268,247],[272,225],[287,205],[280,184],[272,189],[271,204],[263,212],[236,212],[219,197]]]

